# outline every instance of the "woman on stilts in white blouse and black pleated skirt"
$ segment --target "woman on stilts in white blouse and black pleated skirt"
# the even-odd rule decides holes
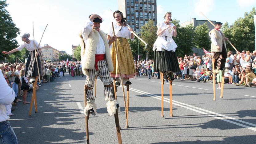
[[[173,79],[172,72],[179,72],[179,64],[176,55],[177,45],[172,37],[177,36],[176,26],[172,23],[172,13],[164,15],[164,22],[157,24],[157,35],[154,51],[154,71],[164,72],[164,79]]]

